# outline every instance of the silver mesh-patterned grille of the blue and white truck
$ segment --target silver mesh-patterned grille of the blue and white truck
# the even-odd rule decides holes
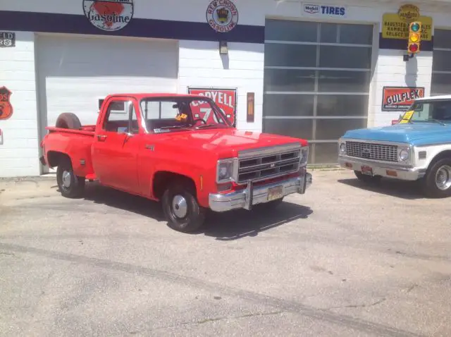
[[[397,162],[397,145],[346,142],[346,154],[350,157]]]

